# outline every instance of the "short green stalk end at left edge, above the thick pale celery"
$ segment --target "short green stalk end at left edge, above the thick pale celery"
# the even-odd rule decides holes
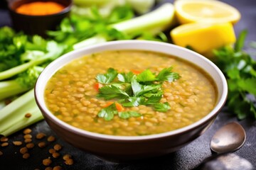
[[[21,86],[16,80],[0,81],[0,101],[25,91],[28,91],[28,88]]]

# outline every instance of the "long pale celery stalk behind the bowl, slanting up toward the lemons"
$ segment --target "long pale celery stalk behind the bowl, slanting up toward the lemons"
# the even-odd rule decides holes
[[[166,30],[174,23],[174,6],[171,3],[166,3],[154,11],[138,16],[129,21],[122,21],[121,23],[115,23],[110,28],[115,28],[122,33],[144,33],[149,32],[152,35],[160,33]],[[74,50],[86,47],[88,45],[94,45],[99,42],[108,41],[103,35],[95,35],[92,38],[83,40],[73,45]]]

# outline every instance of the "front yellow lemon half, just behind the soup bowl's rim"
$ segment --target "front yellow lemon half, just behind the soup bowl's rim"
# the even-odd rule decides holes
[[[213,49],[235,43],[235,31],[231,23],[186,23],[171,30],[171,39],[181,47],[208,55]]]

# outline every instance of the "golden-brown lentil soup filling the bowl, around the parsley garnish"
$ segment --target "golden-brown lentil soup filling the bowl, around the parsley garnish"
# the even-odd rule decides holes
[[[159,74],[172,67],[179,74],[174,81],[161,84],[161,103],[168,111],[156,111],[151,106],[139,105],[117,110],[138,113],[120,118],[119,114],[105,120],[99,113],[117,99],[99,97],[97,75],[114,68],[118,72],[139,74],[150,70]],[[117,79],[117,77],[115,78]],[[195,123],[213,110],[217,89],[210,76],[190,62],[177,57],[141,50],[99,52],[79,59],[58,70],[45,89],[48,109],[60,120],[77,128],[106,135],[151,135],[183,128]]]

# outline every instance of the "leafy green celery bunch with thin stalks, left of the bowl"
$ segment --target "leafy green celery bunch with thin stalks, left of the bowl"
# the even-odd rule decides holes
[[[64,50],[54,40],[0,28],[0,100],[33,89],[38,75]]]

